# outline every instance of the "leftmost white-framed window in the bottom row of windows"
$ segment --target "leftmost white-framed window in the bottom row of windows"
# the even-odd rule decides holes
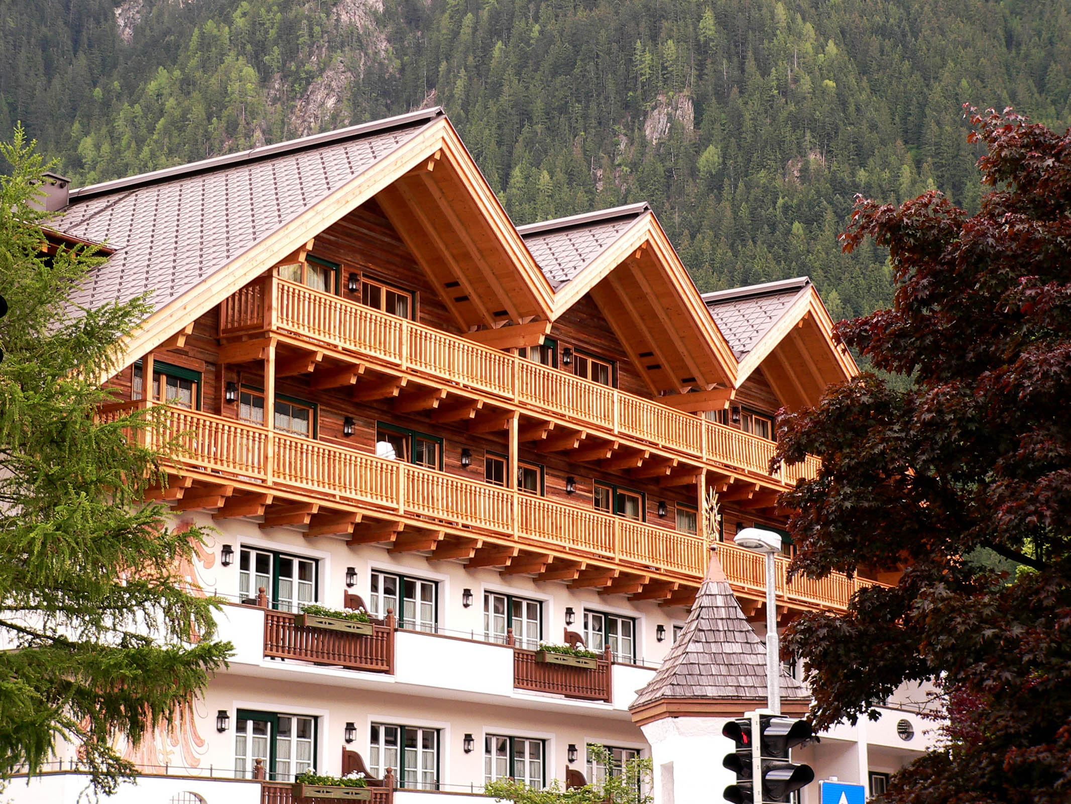
[[[270,781],[293,781],[314,765],[316,718],[238,710],[235,727],[235,776],[253,778],[263,761]]]

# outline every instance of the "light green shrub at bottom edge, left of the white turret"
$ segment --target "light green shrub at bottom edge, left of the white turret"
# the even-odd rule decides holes
[[[589,745],[588,757],[602,768],[613,765],[613,756],[601,745]],[[484,785],[483,792],[497,801],[512,801],[514,804],[650,804],[652,796],[644,792],[651,787],[650,758],[627,760],[619,770],[616,775],[606,774],[600,783],[589,783],[571,790],[562,790],[558,779],[542,790],[516,779],[499,779]]]

